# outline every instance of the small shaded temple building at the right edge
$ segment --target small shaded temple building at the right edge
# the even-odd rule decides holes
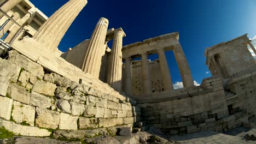
[[[245,34],[207,48],[205,50],[206,64],[211,74],[228,79],[255,71],[256,62],[248,50],[248,45],[253,51],[256,51],[251,40]]]

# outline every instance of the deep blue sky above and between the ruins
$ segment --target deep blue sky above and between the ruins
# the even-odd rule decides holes
[[[67,0],[31,0],[50,16]],[[124,45],[161,34],[179,32],[193,78],[198,83],[211,76],[203,55],[206,47],[248,33],[256,35],[255,0],[88,0],[62,39],[59,49],[66,51],[90,35],[100,17],[109,20],[108,28],[122,27],[127,35]],[[112,45],[109,45],[111,47]],[[181,76],[172,52],[166,52],[173,83]],[[157,56],[152,56],[154,60]]]

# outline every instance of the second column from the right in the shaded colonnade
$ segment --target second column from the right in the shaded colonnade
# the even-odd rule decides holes
[[[167,59],[165,56],[165,50],[159,49],[158,56],[159,56],[160,67],[161,67],[162,82],[164,83],[165,91],[172,91],[173,90],[172,78],[171,78],[170,69],[168,67]]]

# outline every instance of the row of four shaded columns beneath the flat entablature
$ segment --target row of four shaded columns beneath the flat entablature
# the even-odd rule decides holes
[[[170,69],[168,67],[167,59],[165,56],[165,49],[158,49],[158,56],[160,61],[162,82],[164,84],[165,91],[172,91],[172,79]],[[184,55],[181,45],[174,46],[173,49],[174,56],[176,57],[178,67],[182,76],[182,82],[184,87],[194,87],[193,77],[187,62],[187,59]],[[147,52],[141,53],[142,60],[142,78],[143,78],[143,88],[144,93],[150,95],[152,93],[152,82],[150,80],[150,71],[149,71],[149,61]],[[125,58],[125,67],[126,67],[126,87],[125,92],[131,94],[131,58]]]

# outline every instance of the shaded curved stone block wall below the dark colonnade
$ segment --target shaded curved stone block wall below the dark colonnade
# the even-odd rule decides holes
[[[142,120],[171,135],[205,130],[223,132],[247,122],[244,111],[229,112],[219,77],[204,79],[200,87],[176,91],[184,94],[140,104]]]

